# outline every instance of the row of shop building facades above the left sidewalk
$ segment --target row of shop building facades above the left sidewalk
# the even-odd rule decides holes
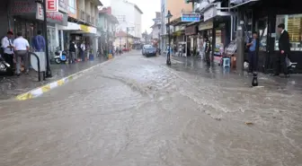
[[[32,0],[4,0],[4,10],[0,10],[2,17],[0,26],[5,33],[11,30],[14,34],[22,31],[25,39],[31,41],[37,31],[48,35],[49,57],[55,56],[57,49],[67,50],[69,40],[83,42],[96,52],[96,22],[98,18],[99,0],[58,0],[58,12],[47,13],[47,30],[43,27],[43,8],[40,1]],[[3,5],[2,5],[3,6]],[[4,34],[3,34],[4,36]]]

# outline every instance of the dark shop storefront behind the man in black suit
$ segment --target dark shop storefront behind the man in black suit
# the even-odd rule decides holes
[[[274,4],[274,7],[271,7],[271,3]],[[285,2],[267,0],[252,6],[243,5],[239,8],[242,14],[248,9],[253,11],[252,29],[260,34],[258,66],[261,72],[274,72],[276,56],[280,52],[278,48],[280,34],[277,31],[277,26],[280,23],[284,23],[285,29],[289,31],[290,60],[298,63],[295,72],[302,72],[300,65],[302,64],[302,13],[300,8],[295,6],[295,3],[298,1],[295,0],[290,5],[286,5]]]

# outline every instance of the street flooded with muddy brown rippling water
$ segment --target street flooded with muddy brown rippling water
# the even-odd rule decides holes
[[[138,51],[40,98],[1,101],[0,165],[302,166],[296,85],[164,63]]]

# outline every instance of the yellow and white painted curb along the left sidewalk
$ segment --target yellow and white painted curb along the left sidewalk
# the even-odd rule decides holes
[[[40,86],[38,88],[35,88],[29,92],[24,92],[22,94],[19,94],[17,95],[14,99],[15,100],[30,100],[30,99],[33,99],[33,98],[37,98],[39,97],[40,95],[42,95],[43,93],[45,92],[49,92],[50,90],[52,89],[55,89],[59,86],[62,86],[66,83],[69,83],[70,81],[72,80],[75,80],[76,78],[82,76],[82,74],[86,73],[86,72],[89,72],[90,70],[92,70],[93,68],[97,67],[97,66],[102,66],[103,64],[105,63],[109,63],[113,60],[112,59],[108,59],[107,61],[104,61],[98,65],[95,65],[95,66],[91,66],[89,68],[86,68],[80,72],[77,72],[76,74],[71,74],[67,77],[64,77],[64,78],[61,78],[55,82],[52,82],[52,83],[47,83],[46,85],[43,85],[43,86]]]

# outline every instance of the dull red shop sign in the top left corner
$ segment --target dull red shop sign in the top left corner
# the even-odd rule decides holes
[[[35,14],[37,4],[32,0],[11,0],[10,12],[12,15]]]

